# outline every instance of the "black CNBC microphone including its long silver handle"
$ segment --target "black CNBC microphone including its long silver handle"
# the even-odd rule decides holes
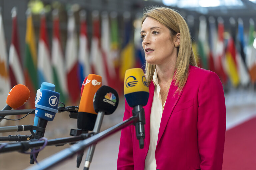
[[[98,113],[93,132],[99,133],[102,124],[103,116],[112,114],[118,106],[118,93],[111,87],[102,86],[96,92],[93,99],[93,107],[95,112]],[[91,145],[87,151],[85,159],[84,170],[88,170],[92,162],[95,144]]]

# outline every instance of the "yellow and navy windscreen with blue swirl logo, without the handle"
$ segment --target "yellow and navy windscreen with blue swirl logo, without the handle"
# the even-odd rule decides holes
[[[132,68],[125,71],[124,97],[130,107],[147,104],[149,89],[141,68]]]

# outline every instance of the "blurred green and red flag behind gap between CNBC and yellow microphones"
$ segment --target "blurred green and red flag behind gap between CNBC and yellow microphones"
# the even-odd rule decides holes
[[[116,76],[114,77],[115,86],[114,89],[118,94],[123,94],[122,82],[119,79],[119,63],[120,63],[120,46],[119,46],[119,34],[118,34],[118,22],[117,22],[117,12],[112,11],[110,13],[110,30],[111,30],[111,51],[110,58],[113,62]]]

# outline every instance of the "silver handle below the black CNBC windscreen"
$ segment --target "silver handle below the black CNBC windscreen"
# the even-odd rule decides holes
[[[102,111],[98,112],[98,116],[97,116],[97,119],[96,119],[96,122],[95,122],[95,125],[93,128],[93,132],[95,132],[95,133],[100,132],[100,127],[102,125],[102,120],[103,120],[104,115],[105,115],[105,112],[102,112]],[[90,163],[92,162],[92,157],[93,157],[93,153],[95,150],[95,146],[96,146],[96,144],[92,144],[88,148],[87,155],[85,158],[84,170],[88,170],[90,167]]]

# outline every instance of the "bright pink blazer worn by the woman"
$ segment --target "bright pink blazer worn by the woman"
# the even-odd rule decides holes
[[[149,149],[149,122],[154,95],[149,85],[145,109],[144,148],[139,148],[135,127],[121,131],[117,170],[144,170]],[[190,66],[182,92],[173,96],[171,83],[156,145],[159,170],[221,170],[226,129],[223,87],[216,73]],[[124,119],[132,116],[125,102]]]

